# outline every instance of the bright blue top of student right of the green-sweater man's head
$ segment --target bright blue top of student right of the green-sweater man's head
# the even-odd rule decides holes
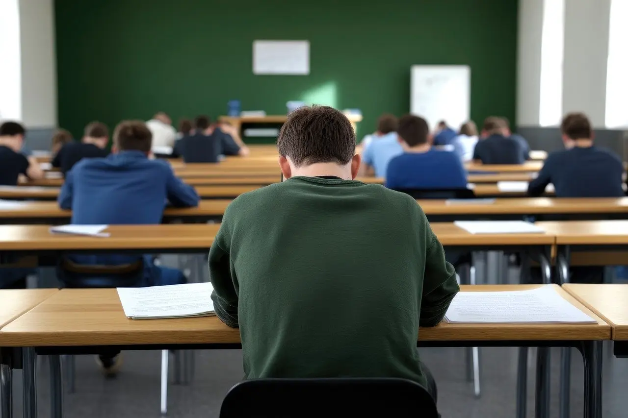
[[[438,149],[404,153],[388,164],[386,187],[395,190],[466,188],[467,172],[456,153]]]

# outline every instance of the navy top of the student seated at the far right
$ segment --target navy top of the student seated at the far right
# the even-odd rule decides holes
[[[554,185],[556,197],[622,197],[622,160],[607,149],[573,147],[549,154],[539,175],[528,186],[531,196]]]

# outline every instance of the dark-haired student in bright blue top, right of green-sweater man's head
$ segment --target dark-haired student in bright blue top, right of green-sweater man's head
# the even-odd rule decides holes
[[[422,117],[405,115],[397,131],[404,153],[391,159],[386,187],[404,189],[467,188],[467,173],[460,158],[431,146],[430,127]]]

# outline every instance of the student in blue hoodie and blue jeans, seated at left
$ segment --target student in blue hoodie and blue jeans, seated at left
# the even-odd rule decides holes
[[[198,205],[192,186],[175,177],[168,163],[148,159],[151,132],[142,121],[121,122],[114,132],[113,153],[107,158],[84,159],[68,171],[58,198],[62,209],[72,209],[78,225],[133,225],[161,223],[166,200],[173,206]],[[153,264],[149,255],[72,255],[78,265],[126,265],[142,260],[144,274],[128,286],[161,286],[186,281],[183,272]],[[94,286],[94,281],[90,286]],[[98,286],[111,283],[102,278]],[[116,373],[117,353],[101,355],[99,364],[106,375]]]

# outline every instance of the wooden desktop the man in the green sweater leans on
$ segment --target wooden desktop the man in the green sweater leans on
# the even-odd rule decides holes
[[[462,286],[462,291],[512,291],[538,285]],[[450,324],[421,328],[420,341],[609,340],[610,326],[556,286],[597,324]],[[3,346],[165,345],[240,343],[239,330],[215,316],[133,320],[116,289],[63,289],[0,331]]]

